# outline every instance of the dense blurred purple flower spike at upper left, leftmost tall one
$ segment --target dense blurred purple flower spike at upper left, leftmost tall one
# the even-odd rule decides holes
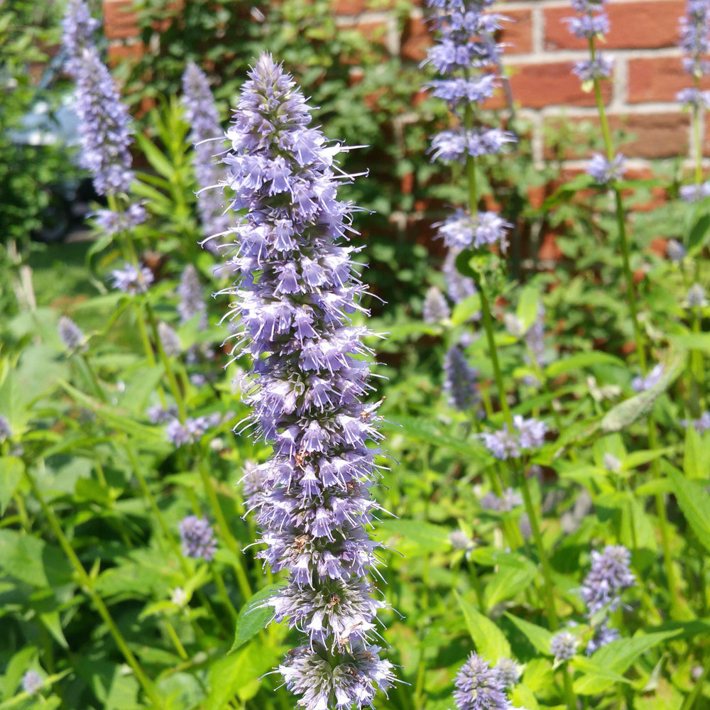
[[[100,195],[127,192],[133,180],[129,113],[97,48],[84,48],[79,62],[76,80],[82,167],[92,173]]]

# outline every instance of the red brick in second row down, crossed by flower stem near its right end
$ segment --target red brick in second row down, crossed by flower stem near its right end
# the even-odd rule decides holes
[[[577,76],[572,74],[572,62],[509,65],[510,88],[516,104],[529,109],[547,106],[594,106],[594,94],[584,92]],[[611,99],[611,82],[601,83],[604,103]],[[499,91],[486,102],[487,109],[500,109],[505,97]]]

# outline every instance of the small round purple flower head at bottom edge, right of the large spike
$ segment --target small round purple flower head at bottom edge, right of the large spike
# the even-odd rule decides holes
[[[491,668],[471,653],[454,681],[454,702],[459,710],[511,710],[506,689],[517,682],[517,666],[505,659]]]

